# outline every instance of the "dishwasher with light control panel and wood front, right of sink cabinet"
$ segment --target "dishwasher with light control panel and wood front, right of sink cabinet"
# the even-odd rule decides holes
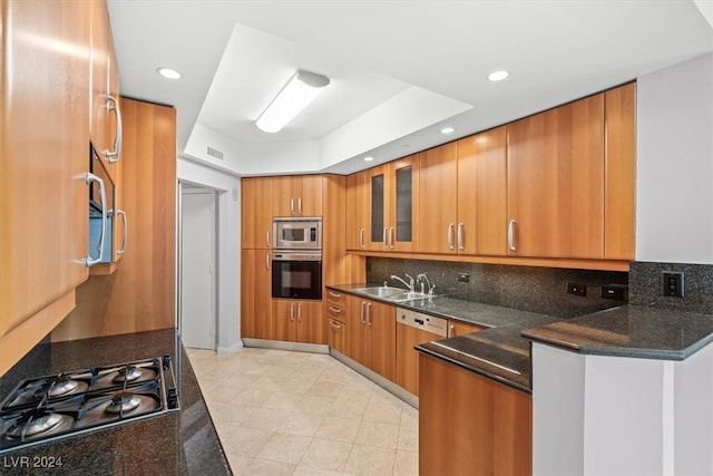
[[[419,354],[414,346],[445,339],[448,320],[397,308],[397,383],[419,395]]]

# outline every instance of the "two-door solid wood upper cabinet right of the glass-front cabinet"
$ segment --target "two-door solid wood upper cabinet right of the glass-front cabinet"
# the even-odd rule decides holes
[[[420,154],[422,253],[506,254],[507,127]]]

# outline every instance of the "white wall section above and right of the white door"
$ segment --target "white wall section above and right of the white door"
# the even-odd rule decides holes
[[[176,165],[179,181],[217,191],[218,353],[228,353],[243,346],[240,332],[241,181],[183,157]]]

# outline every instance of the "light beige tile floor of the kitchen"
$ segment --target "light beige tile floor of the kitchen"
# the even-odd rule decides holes
[[[418,410],[332,357],[187,352],[234,474],[418,474]]]

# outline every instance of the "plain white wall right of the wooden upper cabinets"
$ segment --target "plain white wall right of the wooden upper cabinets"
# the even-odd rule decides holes
[[[713,264],[713,55],[637,82],[636,261]]]

